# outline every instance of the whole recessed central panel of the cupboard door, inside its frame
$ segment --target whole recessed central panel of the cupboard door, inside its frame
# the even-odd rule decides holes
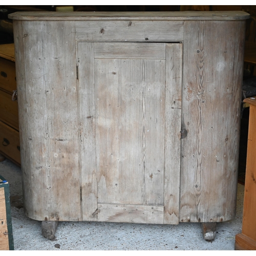
[[[95,65],[98,201],[161,205],[165,62],[96,59]]]

